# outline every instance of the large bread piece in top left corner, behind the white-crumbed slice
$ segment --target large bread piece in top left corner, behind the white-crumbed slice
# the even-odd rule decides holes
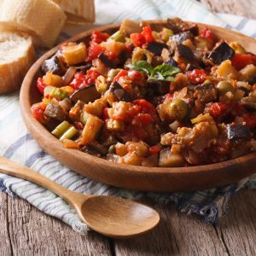
[[[0,0],[1,30],[27,32],[36,45],[55,44],[67,16],[50,0]]]

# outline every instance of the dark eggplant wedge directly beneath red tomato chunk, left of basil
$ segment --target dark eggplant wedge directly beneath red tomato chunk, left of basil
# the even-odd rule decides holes
[[[73,102],[82,101],[85,104],[89,102],[94,102],[96,99],[100,98],[101,95],[96,90],[95,84],[90,84],[82,89],[76,90],[72,96],[69,98]]]

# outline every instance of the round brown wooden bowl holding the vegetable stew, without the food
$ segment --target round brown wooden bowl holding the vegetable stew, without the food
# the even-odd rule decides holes
[[[166,25],[166,20],[148,21],[154,30]],[[238,41],[248,51],[256,49],[256,40],[241,33],[233,32],[217,26],[199,24],[200,28],[208,26],[215,37],[228,41]],[[102,26],[99,31],[113,33],[119,24]],[[92,30],[80,33],[67,42],[84,41],[88,44]],[[91,177],[102,183],[107,183],[125,189],[143,191],[181,191],[207,189],[236,183],[256,171],[256,153],[247,154],[234,160],[224,161],[207,166],[190,166],[180,168],[143,167],[122,165],[85,154],[76,149],[63,148],[61,142],[32,117],[31,106],[40,101],[40,95],[35,86],[36,79],[41,75],[42,62],[54,55],[58,46],[50,49],[34,63],[20,90],[20,107],[28,130],[44,150],[56,160],[75,172]],[[254,52],[255,53],[255,52]]]

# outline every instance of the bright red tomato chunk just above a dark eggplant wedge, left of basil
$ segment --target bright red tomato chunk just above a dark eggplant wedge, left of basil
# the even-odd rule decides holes
[[[99,75],[100,73],[94,69],[87,70],[86,75],[83,73],[76,73],[70,86],[75,90],[79,90],[89,84],[94,84]]]

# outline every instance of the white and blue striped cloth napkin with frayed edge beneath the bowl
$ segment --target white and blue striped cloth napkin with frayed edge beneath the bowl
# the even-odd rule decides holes
[[[247,20],[233,15],[214,15],[209,9],[194,0],[96,0],[96,24],[94,26],[120,22],[125,18],[154,20],[166,19],[171,16],[234,28],[256,38],[256,32],[252,29],[256,27],[256,20]],[[69,25],[61,32],[60,41],[87,28],[91,28],[91,26],[74,27]],[[182,212],[195,212],[203,215],[207,222],[218,221],[218,217],[227,210],[230,196],[234,195],[238,189],[243,186],[256,189],[256,176],[224,188],[161,194],[117,189],[88,177],[82,177],[62,166],[49,154],[44,153],[38,143],[33,140],[20,115],[18,93],[0,96],[0,133],[0,155],[31,167],[67,189],[79,193],[122,196],[131,199],[149,197],[155,203],[173,201],[177,203],[177,207]],[[88,230],[87,226],[80,222],[73,209],[47,189],[19,178],[0,174],[0,190],[6,191],[9,195],[20,196],[42,212],[60,218],[81,234]]]

